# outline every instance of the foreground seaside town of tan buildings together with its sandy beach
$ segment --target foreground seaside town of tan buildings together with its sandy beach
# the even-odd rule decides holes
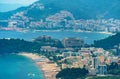
[[[50,36],[40,36],[37,41],[51,40]],[[56,79],[56,75],[66,68],[86,68],[89,76],[108,76],[108,67],[112,63],[120,66],[120,57],[103,48],[85,47],[84,40],[79,38],[64,38],[64,48],[54,46],[42,46],[39,53],[25,53],[26,56],[35,61],[43,71],[45,79]],[[115,49],[113,49],[115,50]]]

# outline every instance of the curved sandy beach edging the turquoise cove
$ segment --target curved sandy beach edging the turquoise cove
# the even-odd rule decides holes
[[[32,59],[39,69],[43,72],[44,79],[56,79],[56,74],[60,71],[60,68],[56,63],[51,62],[44,56],[39,56],[38,54],[33,53],[19,53],[18,55],[22,55]]]

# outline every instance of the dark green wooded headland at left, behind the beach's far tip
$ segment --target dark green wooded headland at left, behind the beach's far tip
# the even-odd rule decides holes
[[[0,39],[0,53],[35,52],[40,44],[20,39]]]

